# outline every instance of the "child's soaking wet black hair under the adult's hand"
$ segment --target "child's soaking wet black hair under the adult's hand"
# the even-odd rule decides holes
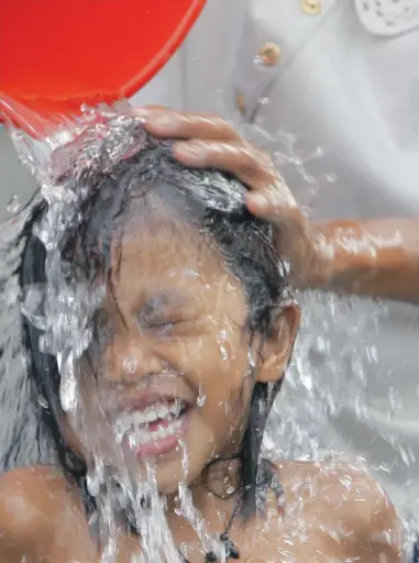
[[[132,214],[133,199],[141,194],[146,201],[157,194],[169,209],[175,207],[188,219],[192,218],[199,231],[214,242],[247,298],[249,334],[268,338],[287,296],[287,286],[280,258],[273,245],[272,228],[247,211],[245,186],[216,170],[189,169],[173,158],[170,143],[158,141],[140,129],[135,131],[142,135],[136,152],[131,151],[128,157],[114,164],[109,163],[104,143],[100,148],[102,154],[98,153],[97,166],[86,166],[81,173],[69,167],[58,180],[76,189],[80,185],[86,191],[79,207],[79,220],[68,227],[60,243],[68,280],[85,278],[91,282],[98,272],[106,272],[110,267],[111,243],[114,243],[115,232],[121,232],[121,224]],[[47,283],[46,251],[34,233],[34,227],[41,223],[47,209],[47,202],[41,201],[25,225],[26,243],[20,268],[23,290],[34,284]],[[68,449],[58,429],[63,410],[56,358],[41,352],[41,333],[36,327],[25,317],[23,323],[25,347],[30,351],[30,374],[37,393],[45,399],[44,420],[53,434],[64,471],[77,479],[82,478],[86,475],[84,462]],[[254,384],[249,421],[238,452],[245,515],[256,510],[263,431],[279,380],[277,384]]]

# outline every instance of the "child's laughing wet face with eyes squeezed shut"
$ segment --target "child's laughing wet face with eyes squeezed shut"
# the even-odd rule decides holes
[[[253,377],[282,376],[290,334],[261,349],[245,329],[241,284],[219,252],[184,221],[131,227],[120,249],[106,322],[99,390],[115,439],[156,466],[161,492],[176,490],[217,454],[239,450]],[[115,305],[117,303],[117,305]],[[293,331],[291,331],[293,332]],[[261,355],[262,352],[262,355]]]

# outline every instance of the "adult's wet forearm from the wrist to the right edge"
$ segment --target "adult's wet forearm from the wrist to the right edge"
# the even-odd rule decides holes
[[[309,287],[405,301],[419,299],[419,220],[312,224]]]

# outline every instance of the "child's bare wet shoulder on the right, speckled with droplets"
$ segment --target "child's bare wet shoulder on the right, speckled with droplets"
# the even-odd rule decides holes
[[[373,476],[356,462],[285,462],[278,465],[287,514],[304,514],[311,528],[328,531],[334,556],[401,560],[401,523]]]

